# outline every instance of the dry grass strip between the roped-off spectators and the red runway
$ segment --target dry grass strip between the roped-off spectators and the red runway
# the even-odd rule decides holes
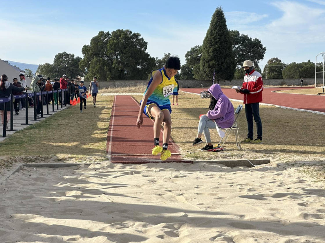
[[[96,108],[88,98],[82,114],[77,104],[17,131],[0,143],[2,167],[17,156],[24,162],[104,160],[113,98],[98,96]]]

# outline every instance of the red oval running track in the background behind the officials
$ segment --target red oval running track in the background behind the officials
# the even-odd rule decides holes
[[[272,92],[276,90],[288,89],[306,89],[307,87],[291,87],[291,88],[264,88],[263,101],[261,103],[285,106],[290,108],[298,108],[304,110],[315,110],[325,112],[325,96],[323,95],[301,95]],[[202,88],[181,88],[181,91],[200,94]],[[243,100],[243,94],[237,93],[232,88],[222,88],[222,91],[228,98]]]

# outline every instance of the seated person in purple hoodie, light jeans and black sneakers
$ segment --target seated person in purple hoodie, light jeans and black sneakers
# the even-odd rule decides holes
[[[209,111],[205,115],[201,115],[198,135],[193,141],[193,146],[203,143],[201,140],[202,133],[204,134],[205,145],[201,150],[213,149],[209,128],[228,128],[235,121],[234,107],[229,98],[222,92],[219,84],[213,84],[208,90],[210,93]]]

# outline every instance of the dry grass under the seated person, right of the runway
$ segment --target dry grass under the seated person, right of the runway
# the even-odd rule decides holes
[[[209,99],[180,92],[179,106],[172,107],[172,133],[175,143],[180,146],[186,158],[197,160],[217,159],[264,159],[273,162],[303,162],[324,160],[324,140],[315,128],[323,125],[324,116],[310,112],[301,112],[274,106],[260,106],[260,115],[263,123],[264,144],[254,145],[242,143],[241,150],[237,149],[234,133],[231,133],[225,143],[226,151],[212,153],[198,150],[204,146],[192,147],[192,142],[197,135],[199,115],[205,114],[208,109]],[[134,96],[138,101],[141,96]],[[234,108],[240,103],[232,102]],[[238,119],[240,138],[247,137],[247,121],[243,109]],[[211,130],[214,145],[219,137],[216,131]],[[254,123],[254,138],[256,127]],[[202,136],[202,140],[204,137]]]

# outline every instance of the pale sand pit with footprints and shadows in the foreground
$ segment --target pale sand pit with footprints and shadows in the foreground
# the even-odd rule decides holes
[[[296,167],[104,162],[1,181],[0,242],[325,241],[323,182]]]

